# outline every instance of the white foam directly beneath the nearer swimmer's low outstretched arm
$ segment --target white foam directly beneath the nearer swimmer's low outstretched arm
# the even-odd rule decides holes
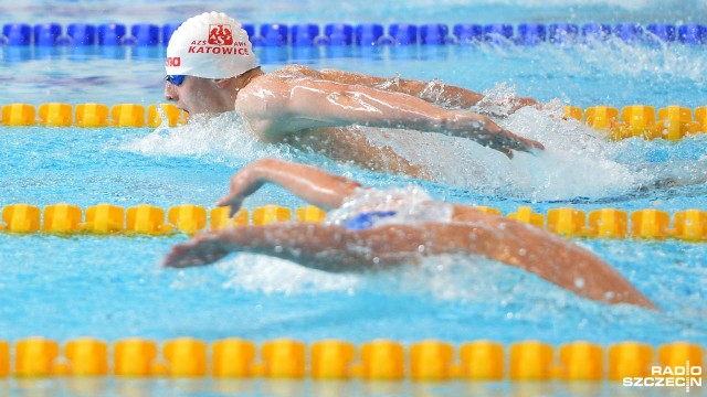
[[[345,292],[430,297],[436,301],[523,308],[544,318],[546,310],[598,305],[535,275],[473,255],[440,255],[387,271],[328,273],[286,260],[239,254],[217,265],[226,277],[222,288],[266,294]],[[534,309],[534,308],[540,309]]]

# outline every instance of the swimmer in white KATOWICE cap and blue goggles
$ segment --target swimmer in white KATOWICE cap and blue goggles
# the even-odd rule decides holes
[[[486,116],[460,110],[485,103],[483,95],[464,88],[303,65],[265,73],[255,65],[247,33],[223,13],[182,23],[170,37],[165,67],[166,99],[189,115],[235,110],[261,141],[313,149],[372,171],[421,176],[390,147],[366,139],[367,128],[471,139],[509,158],[513,150],[544,148]],[[537,101],[520,97],[508,105],[513,110]]]

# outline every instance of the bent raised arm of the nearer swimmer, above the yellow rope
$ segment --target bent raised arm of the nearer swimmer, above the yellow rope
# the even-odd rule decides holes
[[[318,168],[278,159],[262,159],[243,167],[231,178],[231,192],[218,201],[230,206],[231,215],[239,211],[243,200],[266,183],[274,183],[299,198],[324,210],[335,208],[361,185],[344,176]]]

